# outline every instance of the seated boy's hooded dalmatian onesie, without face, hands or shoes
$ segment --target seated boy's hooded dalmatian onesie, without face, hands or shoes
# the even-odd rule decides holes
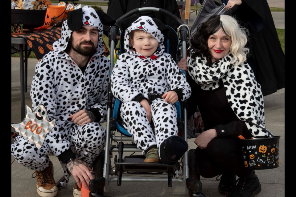
[[[159,49],[150,58],[134,51],[129,42],[130,31],[139,29],[139,26],[159,41]],[[113,95],[123,102],[120,114],[124,125],[144,153],[151,145],[158,146],[167,137],[177,134],[176,109],[173,104],[164,102],[164,99],[153,101],[151,108],[155,124],[154,134],[146,111],[133,99],[138,94],[148,98],[148,93],[164,94],[178,89],[182,92],[182,98],[179,100],[183,101],[189,98],[191,89],[171,55],[164,53],[163,34],[152,18],[140,17],[126,29],[124,39],[126,53],[119,56],[114,66],[111,90]]]

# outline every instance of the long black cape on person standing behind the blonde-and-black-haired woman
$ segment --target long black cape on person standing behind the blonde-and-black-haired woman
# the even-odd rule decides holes
[[[249,30],[247,43],[264,96],[285,87],[285,54],[266,0],[244,0],[234,16]],[[252,59],[251,59],[252,60]],[[248,60],[249,62],[249,60]]]

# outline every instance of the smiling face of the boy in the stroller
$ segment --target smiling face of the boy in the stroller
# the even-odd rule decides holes
[[[158,41],[145,31],[135,31],[133,38],[130,38],[133,48],[145,57],[150,57],[158,48]]]

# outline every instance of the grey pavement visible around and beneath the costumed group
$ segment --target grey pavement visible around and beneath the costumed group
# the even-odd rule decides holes
[[[84,0],[81,1],[83,3]],[[85,0],[92,1],[92,0]],[[95,1],[95,0],[93,0]],[[102,1],[103,0],[98,0]],[[268,0],[270,7],[283,7],[284,0],[275,1]],[[279,3],[280,2],[280,3]],[[102,6],[103,10],[107,7]],[[194,14],[194,13],[192,13]],[[190,22],[195,18],[191,14]],[[279,13],[276,13],[277,15]],[[278,24],[285,23],[284,12],[279,14],[280,19]],[[283,15],[283,18],[282,18]],[[273,13],[274,17],[274,13]],[[277,28],[277,20],[274,19]],[[30,98],[30,84],[34,74],[36,59],[28,60],[28,92],[25,93],[25,105],[31,106]],[[18,123],[21,121],[20,116],[20,72],[19,72],[19,58],[11,58],[11,123]],[[285,196],[285,88],[278,90],[276,93],[264,97],[265,102],[265,118],[266,127],[272,131],[274,135],[281,136],[280,139],[280,166],[271,170],[257,170],[256,174],[260,180],[262,191],[258,197],[283,197]],[[189,149],[196,148],[194,139],[188,139]],[[54,177],[57,181],[63,176],[63,169],[60,162],[54,156],[50,156],[54,164]],[[11,156],[11,162],[13,162]],[[113,164],[114,165],[114,164]],[[38,197],[36,192],[36,178],[31,178],[34,173],[32,170],[19,165],[15,161],[11,165],[11,196],[12,197]],[[127,175],[131,176],[131,175]],[[160,175],[154,175],[160,176]],[[205,179],[201,177],[203,183],[203,193],[210,197],[223,196],[218,192],[219,181],[215,178]],[[57,197],[72,197],[72,187],[75,184],[73,177],[70,177],[68,187],[59,188]],[[173,183],[173,187],[167,187],[167,183],[140,183],[140,182],[124,182],[121,186],[116,183],[110,183],[110,189],[107,193],[113,197],[151,197],[151,196],[165,196],[165,197],[187,197],[184,193],[183,185],[181,183]]]

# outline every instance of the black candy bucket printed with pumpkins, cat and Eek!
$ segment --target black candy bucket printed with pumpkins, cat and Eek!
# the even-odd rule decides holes
[[[258,126],[258,125],[257,125]],[[258,126],[260,127],[260,126]],[[277,168],[280,165],[280,136],[259,139],[241,139],[245,167],[253,170]]]

